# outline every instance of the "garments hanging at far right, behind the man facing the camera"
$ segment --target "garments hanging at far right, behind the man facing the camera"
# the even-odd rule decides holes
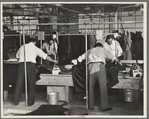
[[[122,60],[143,60],[143,37],[142,32],[121,33],[118,42],[124,52]]]

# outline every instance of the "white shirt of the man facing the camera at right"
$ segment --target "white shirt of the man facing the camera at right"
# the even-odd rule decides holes
[[[111,52],[115,57],[120,57],[123,53],[122,48],[118,41],[112,40],[112,44],[109,45],[107,42],[104,43],[104,48]]]

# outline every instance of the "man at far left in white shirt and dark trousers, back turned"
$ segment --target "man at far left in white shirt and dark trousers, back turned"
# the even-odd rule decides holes
[[[36,81],[36,57],[39,56],[44,60],[57,63],[56,60],[53,60],[47,54],[45,54],[41,49],[35,46],[36,39],[30,38],[29,43],[25,44],[25,60],[26,60],[26,69],[27,69],[27,84],[28,84],[28,106],[34,104],[35,98],[35,81]],[[25,69],[24,69],[24,46],[22,45],[18,50],[16,57],[19,59],[17,80],[14,96],[12,102],[15,105],[19,104],[19,99],[23,90]]]

